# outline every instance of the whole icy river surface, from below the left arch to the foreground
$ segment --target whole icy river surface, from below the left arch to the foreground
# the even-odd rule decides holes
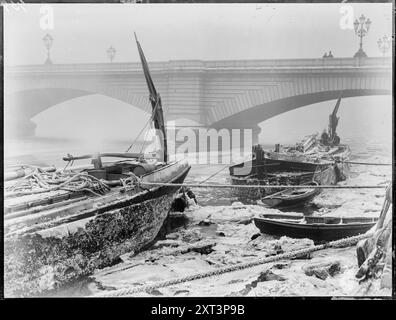
[[[375,163],[392,162],[392,144],[387,137],[355,137],[345,139],[350,145],[351,160]],[[127,142],[103,143],[100,150],[106,152],[125,151]],[[39,164],[62,167],[61,157],[67,153],[78,155],[90,153],[97,148],[73,140],[31,138],[5,141],[5,166],[12,164]],[[225,164],[192,165],[186,182],[200,182],[210,177]],[[391,167],[352,166],[351,175],[343,185],[387,185],[391,179]],[[207,183],[229,183],[229,172],[222,170]],[[293,240],[258,235],[259,230],[252,222],[255,215],[276,209],[265,209],[257,205],[236,202],[224,189],[196,189],[198,205],[186,212],[186,222],[167,235],[168,243],[154,246],[137,255],[123,255],[121,263],[98,270],[92,277],[62,290],[56,295],[92,295],[104,290],[130,288],[160,280],[167,280],[192,273],[210,271],[214,268],[248,262],[264,255],[274,254],[274,248],[284,252],[312,245],[308,239]],[[324,190],[312,204],[302,210],[315,215],[334,216],[378,216],[384,199],[380,189]],[[301,209],[300,209],[301,212]],[[200,224],[206,221],[206,225]],[[252,236],[256,235],[256,238]],[[252,240],[253,239],[253,240]],[[191,246],[199,241],[213,244],[212,252],[177,253],[175,248]],[[307,263],[337,261],[339,274],[326,280],[307,276],[302,271]],[[226,275],[197,280],[189,283],[161,288],[138,296],[348,296],[359,295],[361,286],[354,278],[357,271],[355,249],[328,249],[313,254],[309,260],[293,260],[259,266]],[[263,276],[265,275],[265,277]],[[364,295],[364,293],[362,293]],[[376,291],[375,294],[390,294]]]

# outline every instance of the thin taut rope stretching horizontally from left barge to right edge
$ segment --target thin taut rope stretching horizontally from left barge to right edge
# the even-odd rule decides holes
[[[203,183],[165,183],[165,182],[141,182],[142,185],[150,186],[163,186],[163,187],[189,187],[189,188],[225,188],[225,189],[384,189],[387,186],[339,186],[339,185],[317,185],[317,186],[307,186],[307,185],[263,185],[263,184],[250,184],[250,185],[235,185],[235,184],[203,184]]]

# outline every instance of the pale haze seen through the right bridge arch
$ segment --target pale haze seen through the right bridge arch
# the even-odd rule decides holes
[[[336,100],[301,107],[260,124],[264,144],[294,143],[296,138],[327,129],[329,114]],[[345,98],[337,116],[341,139],[392,143],[392,97],[370,96]]]

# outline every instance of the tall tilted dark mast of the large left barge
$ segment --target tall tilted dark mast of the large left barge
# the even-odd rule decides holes
[[[146,78],[147,87],[150,92],[149,100],[151,102],[151,107],[152,107],[151,119],[154,122],[154,127],[156,129],[156,133],[158,134],[161,144],[161,151],[163,152],[163,158],[161,159],[161,161],[166,163],[168,162],[168,145],[166,139],[165,121],[164,121],[164,113],[162,109],[161,97],[159,93],[157,93],[157,90],[155,89],[154,82],[153,79],[151,78],[150,70],[148,68],[142,47],[140,46],[140,43],[136,37],[136,33],[134,34],[135,34],[136,45],[139,50],[140,60],[142,62],[144,77]]]

